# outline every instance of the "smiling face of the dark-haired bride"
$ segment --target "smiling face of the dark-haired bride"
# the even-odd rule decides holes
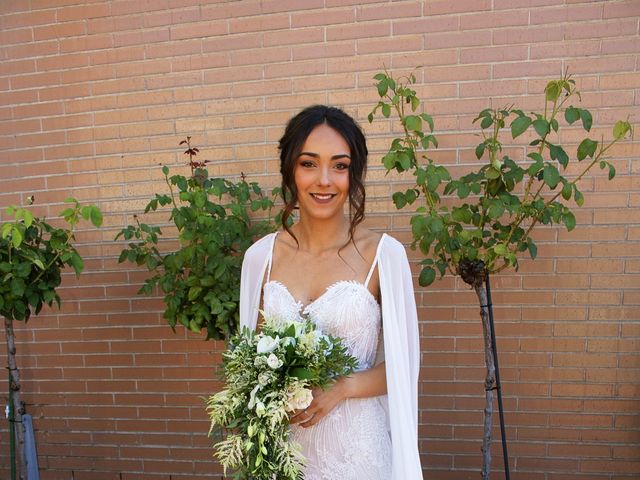
[[[326,124],[311,130],[294,170],[301,217],[343,215],[349,198],[350,163],[351,151],[342,135]]]

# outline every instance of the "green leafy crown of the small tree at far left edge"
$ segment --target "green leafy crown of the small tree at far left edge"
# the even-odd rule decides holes
[[[60,217],[68,228],[53,227],[26,208],[7,208],[13,221],[0,227],[0,315],[26,322],[44,304],[55,302],[60,307],[56,289],[62,270],[71,267],[80,276],[84,262],[72,245],[74,228],[81,219],[99,227],[102,213],[95,205],[81,206],[74,198],[65,202],[71,206]]]

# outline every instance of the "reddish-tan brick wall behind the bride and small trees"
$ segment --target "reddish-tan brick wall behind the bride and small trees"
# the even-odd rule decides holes
[[[545,82],[567,68],[598,134],[640,114],[635,0],[5,0],[0,13],[0,206],[34,194],[37,211],[53,216],[73,195],[105,212],[104,228],[78,235],[87,269],[65,276],[61,311],[18,328],[43,480],[219,472],[201,396],[217,387],[220,345],[174,335],[161,301],[136,296],[144,273],[119,265],[113,242],[165,190],[158,164],[184,171],[176,147],[186,135],[214,175],[243,171],[272,186],[285,121],[311,103],[342,106],[370,141],[369,224],[408,241],[407,214],[389,201],[401,180],[379,162],[390,124],[366,122],[383,65],[423,66],[434,157],[456,171],[476,163],[474,114],[538,108]],[[578,139],[575,129],[562,135]],[[494,279],[512,478],[640,475],[638,145],[612,150],[613,182],[597,172],[583,183],[574,232],[540,231],[539,258]],[[425,477],[476,479],[476,300],[451,277],[417,296]],[[494,454],[500,469],[498,445]]]

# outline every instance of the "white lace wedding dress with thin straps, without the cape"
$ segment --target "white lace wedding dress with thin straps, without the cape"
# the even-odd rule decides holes
[[[265,314],[288,320],[308,316],[323,333],[342,338],[360,370],[371,368],[381,328],[380,306],[367,288],[376,262],[364,283],[336,282],[303,306],[284,284],[270,280],[272,255],[263,290]],[[380,397],[347,399],[316,425],[292,425],[291,430],[307,460],[305,480],[391,478],[391,439]]]

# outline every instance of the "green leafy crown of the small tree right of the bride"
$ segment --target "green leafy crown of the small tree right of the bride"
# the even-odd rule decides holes
[[[608,143],[588,137],[577,150],[554,143],[564,111],[564,120],[572,125],[578,120],[589,132],[593,117],[588,110],[565,105],[570,99],[580,99],[575,82],[568,75],[549,82],[545,88],[542,113],[525,113],[513,106],[502,109],[487,108],[474,119],[479,122],[482,142],[476,157],[485,159],[477,169],[460,178],[452,178],[448,170],[429,158],[429,150],[437,148],[433,135],[433,120],[426,113],[418,113],[422,103],[412,88],[413,74],[395,79],[388,72],[378,73],[374,79],[381,100],[369,114],[372,122],[378,110],[385,118],[394,111],[403,127],[404,135],[394,138],[382,161],[387,173],[410,171],[415,186],[406,192],[396,192],[393,202],[398,209],[424,200],[411,218],[413,248],[425,257],[419,276],[420,285],[431,284],[439,273],[449,270],[460,274],[460,264],[477,262],[483,265],[478,274],[496,273],[507,267],[518,268],[517,255],[528,252],[537,255],[531,232],[539,224],[563,224],[567,230],[576,226],[575,215],[568,202],[573,197],[578,206],[584,196],[578,182],[591,168],[599,164],[608,168],[608,178],[615,169],[607,160],[607,151],[616,142],[632,134],[628,121],[619,121]],[[423,129],[424,120],[428,131]],[[528,153],[523,159],[502,155],[501,131],[510,129],[511,138],[530,135]],[[570,158],[591,160],[575,178],[567,178],[564,171]],[[441,196],[456,196],[452,207],[440,203]],[[465,278],[467,281],[467,278]]]

